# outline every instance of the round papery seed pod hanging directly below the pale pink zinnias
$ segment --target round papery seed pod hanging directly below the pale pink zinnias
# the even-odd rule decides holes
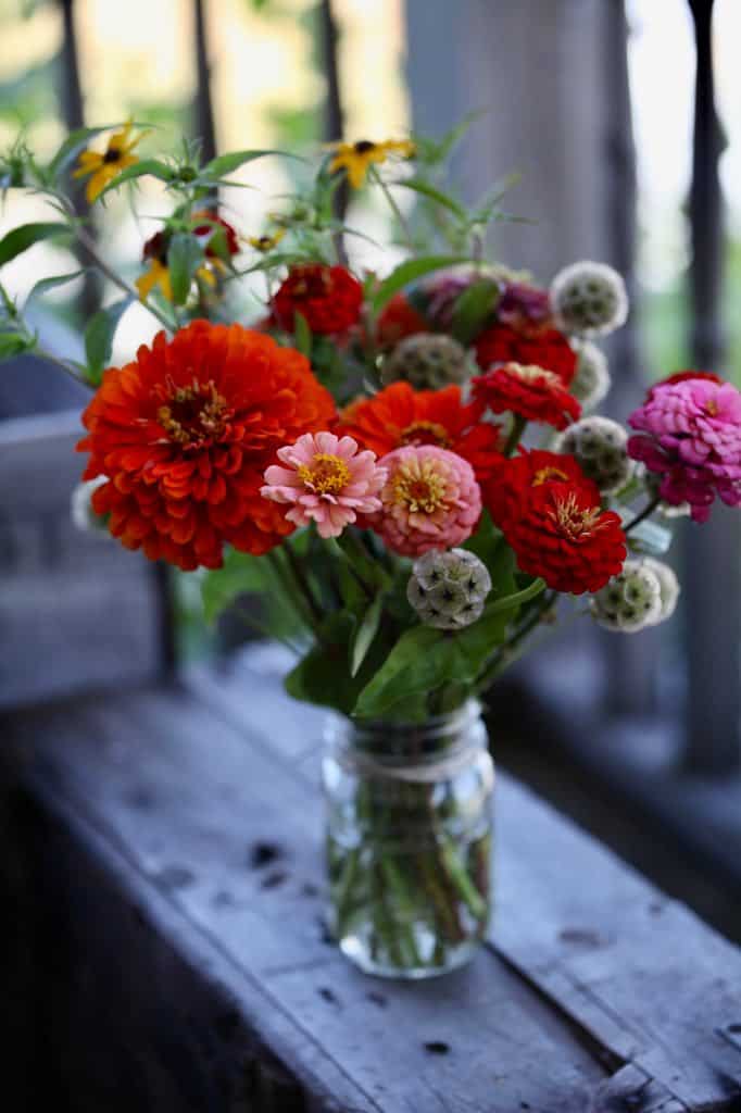
[[[461,630],[481,618],[491,590],[486,565],[474,553],[431,550],[414,562],[406,597],[425,626]]]

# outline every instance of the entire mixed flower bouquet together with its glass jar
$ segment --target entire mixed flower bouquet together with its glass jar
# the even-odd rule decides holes
[[[580,262],[545,288],[485,260],[503,193],[470,208],[447,190],[456,137],[334,145],[246,237],[219,195],[279,152],[138,159],[127,124],[71,135],[48,165],[22,144],[0,164],[4,189],[57,210],[8,233],[0,265],[76,240],[117,289],[85,364],[45,353],[93,391],[78,516],[207,570],[210,615],[245,593],[288,615],[288,692],[344,717],[325,765],[335,932],[366,968],[411,976],[463,961],[486,923],[492,777],[473,701],[562,595],[621,633],[669,618],[679,585],[649,519],[741,502],[739,391],[684,371],[651,387],[630,436],[593,415],[610,385],[595,341],[625,322],[623,282]],[[90,205],[144,176],[171,197],[134,284],[70,199],[70,170]],[[387,273],[348,263],[360,233],[340,186],[388,205],[405,257]],[[235,292],[257,280],[259,312],[236,321]],[[2,297],[0,354],[38,349]],[[135,301],[159,331],[108,367]]]

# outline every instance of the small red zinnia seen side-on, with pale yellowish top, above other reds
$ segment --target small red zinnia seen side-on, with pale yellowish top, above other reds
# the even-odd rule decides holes
[[[474,398],[484,402],[495,414],[508,410],[527,421],[565,429],[582,412],[562,380],[543,367],[506,363],[492,367],[485,375],[477,375],[472,382]]]

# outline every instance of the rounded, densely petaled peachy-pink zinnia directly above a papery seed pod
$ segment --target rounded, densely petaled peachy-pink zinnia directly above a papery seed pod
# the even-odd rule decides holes
[[[368,524],[389,549],[419,556],[471,536],[481,516],[481,491],[466,460],[421,444],[395,449],[381,464],[388,471],[381,492],[383,509]]]

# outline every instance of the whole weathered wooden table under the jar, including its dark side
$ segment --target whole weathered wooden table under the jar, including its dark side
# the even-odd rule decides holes
[[[270,648],[9,718],[19,935],[71,1109],[741,1109],[739,952],[505,776],[487,947],[422,984],[352,968],[323,924],[320,723]]]

